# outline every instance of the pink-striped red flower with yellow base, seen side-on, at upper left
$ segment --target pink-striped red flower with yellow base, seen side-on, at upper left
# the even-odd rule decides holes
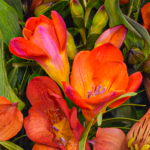
[[[13,38],[9,43],[14,55],[35,60],[61,87],[61,81],[69,81],[67,58],[67,30],[61,16],[51,12],[52,20],[45,16],[32,17],[26,22],[23,36]]]

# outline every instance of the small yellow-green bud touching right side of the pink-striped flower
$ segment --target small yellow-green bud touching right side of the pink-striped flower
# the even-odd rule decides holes
[[[71,60],[73,60],[76,53],[77,48],[74,42],[74,38],[70,32],[67,31],[67,55]]]

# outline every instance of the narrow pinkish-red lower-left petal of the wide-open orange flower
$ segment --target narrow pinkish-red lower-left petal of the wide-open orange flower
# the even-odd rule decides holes
[[[68,83],[62,82],[65,94],[80,108],[90,110],[84,99]]]

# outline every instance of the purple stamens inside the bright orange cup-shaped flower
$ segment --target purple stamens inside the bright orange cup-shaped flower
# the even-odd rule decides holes
[[[99,86],[95,86],[94,84],[92,84],[92,90],[89,90],[87,93],[88,93],[88,98],[91,98],[91,97],[95,97],[96,95],[100,95],[102,93],[105,92],[105,87],[103,87],[102,89],[102,86],[99,85]]]

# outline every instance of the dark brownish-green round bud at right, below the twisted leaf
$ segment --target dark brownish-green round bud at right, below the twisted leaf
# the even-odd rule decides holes
[[[137,64],[142,62],[145,59],[143,52],[140,48],[132,47],[128,56],[129,64]]]

